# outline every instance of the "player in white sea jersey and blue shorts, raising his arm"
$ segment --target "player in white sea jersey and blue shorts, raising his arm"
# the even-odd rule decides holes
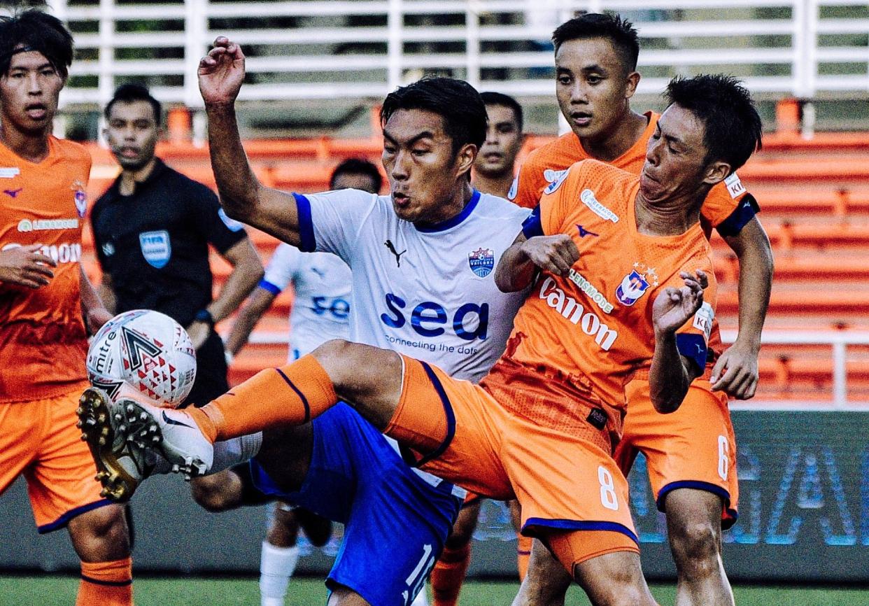
[[[437,363],[454,376],[479,381],[504,350],[512,318],[525,293],[505,294],[494,283],[494,266],[528,216],[506,200],[481,194],[468,179],[485,138],[486,110],[468,84],[434,78],[401,87],[383,103],[383,165],[389,196],[359,190],[313,196],[287,194],[259,183],[249,168],[235,123],[234,103],[244,77],[244,56],[224,37],[200,64],[200,89],[209,117],[212,167],[230,216],[306,251],[333,252],[353,271],[350,339]],[[304,363],[303,357],[298,363]],[[277,378],[295,390],[280,369],[263,370],[238,390],[256,390]],[[271,387],[259,396],[282,398]],[[112,414],[99,410],[111,406]],[[83,396],[83,416],[110,437],[133,432],[94,390]],[[149,409],[154,411],[156,409]],[[158,448],[176,462],[173,430],[189,425],[172,410]],[[136,419],[140,418],[136,415]],[[147,422],[153,423],[153,422]],[[86,425],[88,423],[85,423]],[[121,434],[118,436],[118,434]],[[133,434],[130,433],[129,436]],[[96,443],[96,434],[87,436]],[[310,449],[297,449],[308,441]],[[97,454],[103,468],[120,477],[126,456],[141,457],[144,444],[106,440]],[[123,442],[123,445],[120,445]],[[109,445],[111,443],[111,445]],[[114,444],[119,444],[113,448]],[[291,453],[288,450],[302,450]],[[212,463],[181,467],[198,472]],[[379,430],[348,405],[314,423],[269,430],[248,476],[236,475],[228,491],[286,498],[345,523],[341,555],[329,575],[329,604],[404,606],[423,586],[439,555],[465,491],[411,469]],[[115,473],[117,471],[117,473]],[[116,494],[129,496],[138,478]],[[253,500],[253,499],[251,499]],[[234,503],[212,503],[215,509]]]

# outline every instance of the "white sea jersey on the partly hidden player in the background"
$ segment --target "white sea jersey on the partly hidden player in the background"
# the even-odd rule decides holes
[[[329,339],[350,334],[350,268],[325,252],[313,254],[282,243],[275,249],[260,288],[275,295],[293,284],[289,314],[289,360],[309,353]]]

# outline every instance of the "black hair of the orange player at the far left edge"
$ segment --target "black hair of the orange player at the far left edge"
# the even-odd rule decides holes
[[[0,76],[9,73],[17,52],[29,50],[42,53],[62,77],[70,73],[72,34],[60,19],[36,9],[0,17]]]

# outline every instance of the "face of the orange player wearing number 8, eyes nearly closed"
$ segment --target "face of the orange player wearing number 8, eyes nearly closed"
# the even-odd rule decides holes
[[[693,112],[671,105],[658,120],[640,173],[640,193],[649,202],[693,199],[707,176],[706,128]]]

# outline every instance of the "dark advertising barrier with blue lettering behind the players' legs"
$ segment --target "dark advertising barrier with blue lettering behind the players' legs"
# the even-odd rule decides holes
[[[724,534],[734,582],[869,583],[869,412],[734,410],[740,518]],[[732,472],[732,470],[728,470]],[[673,579],[667,525],[638,459],[630,478],[634,523],[649,578]],[[23,480],[0,496],[0,569],[64,570],[78,563],[63,531],[36,536]],[[209,514],[179,477],[143,483],[132,502],[138,571],[167,574],[259,570],[265,512]],[[300,571],[322,575],[342,536],[323,549],[302,540]],[[388,565],[388,563],[385,563]],[[514,576],[515,533],[502,503],[485,502],[474,534],[472,576]]]

